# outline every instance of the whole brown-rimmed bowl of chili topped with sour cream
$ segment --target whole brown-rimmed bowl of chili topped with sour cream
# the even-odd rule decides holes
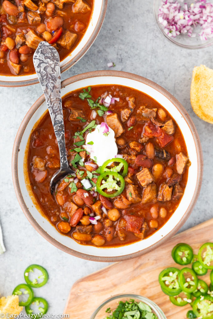
[[[62,82],[67,158],[75,174],[50,194],[60,167],[44,96],[25,116],[13,149],[16,195],[27,219],[56,247],[119,261],[154,249],[184,224],[202,182],[192,120],[159,85],[97,71]]]

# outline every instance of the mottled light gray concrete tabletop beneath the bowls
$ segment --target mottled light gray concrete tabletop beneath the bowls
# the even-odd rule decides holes
[[[195,65],[202,63],[213,68],[212,48],[187,50],[167,41],[156,26],[151,0],[108,0],[106,18],[95,43],[62,78],[105,70],[111,61],[116,64],[114,70],[136,73],[162,85],[192,117],[202,142],[204,176],[197,204],[182,230],[210,219],[213,125],[194,114],[190,83]],[[11,294],[17,284],[24,282],[24,269],[31,263],[39,263],[48,270],[49,282],[36,290],[36,296],[49,301],[49,312],[60,314],[72,284],[107,264],[81,260],[55,248],[34,230],[19,207],[11,178],[12,147],[24,115],[41,94],[39,85],[0,88],[0,222],[6,246],[6,253],[0,256],[0,294]]]

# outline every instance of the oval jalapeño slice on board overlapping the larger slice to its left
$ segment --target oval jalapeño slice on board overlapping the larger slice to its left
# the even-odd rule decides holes
[[[183,268],[179,272],[179,285],[185,293],[193,293],[198,286],[198,278],[191,268]]]

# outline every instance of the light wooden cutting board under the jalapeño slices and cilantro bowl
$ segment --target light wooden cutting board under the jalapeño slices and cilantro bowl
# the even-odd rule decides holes
[[[154,251],[141,257],[114,263],[100,271],[81,278],[73,286],[65,306],[65,314],[72,319],[90,319],[95,309],[116,294],[133,293],[153,300],[165,313],[167,319],[186,319],[190,306],[171,304],[158,283],[159,273],[167,267],[183,268],[174,263],[172,248],[180,242],[192,246],[194,254],[205,242],[213,242],[213,219],[175,235]],[[208,271],[202,276],[210,284]]]

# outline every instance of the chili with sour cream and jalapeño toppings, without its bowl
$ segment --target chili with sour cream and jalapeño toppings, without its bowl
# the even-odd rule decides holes
[[[81,244],[120,246],[155,233],[177,209],[190,166],[175,120],[150,96],[120,85],[71,92],[63,113],[75,175],[66,176],[54,196],[49,184],[60,162],[49,113],[30,136],[28,174],[43,214]],[[113,137],[106,156],[118,149],[101,165],[97,134],[106,142]]]

